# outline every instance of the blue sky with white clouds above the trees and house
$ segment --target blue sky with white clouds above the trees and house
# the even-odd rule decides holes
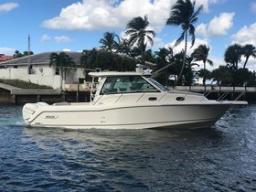
[[[0,0],[0,54],[14,55],[28,47],[34,54],[50,51],[82,51],[98,48],[105,32],[123,37],[133,17],[147,16],[155,30],[154,51],[174,47],[181,27],[166,26],[176,0]],[[204,9],[198,15],[196,42],[187,54],[205,44],[210,48],[208,69],[226,65],[225,50],[234,43],[256,46],[256,0],[197,0]],[[28,46],[28,36],[30,46]],[[189,38],[190,41],[190,38]],[[242,67],[244,58],[241,59]],[[256,59],[247,68],[256,70]]]

